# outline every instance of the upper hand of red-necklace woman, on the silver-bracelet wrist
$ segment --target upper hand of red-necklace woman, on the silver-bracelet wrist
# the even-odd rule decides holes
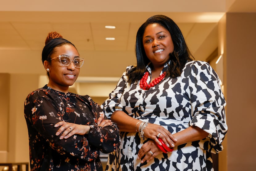
[[[157,124],[148,123],[143,132],[145,137],[154,140],[160,146],[162,144],[158,140],[158,136],[163,140],[167,147],[174,147],[174,142],[177,142],[177,139],[167,129]]]

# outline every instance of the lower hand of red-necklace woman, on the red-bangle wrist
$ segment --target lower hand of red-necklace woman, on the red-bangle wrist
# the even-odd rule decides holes
[[[156,146],[155,141],[150,139],[140,148],[137,159],[139,160],[145,155],[145,157],[142,158],[141,163],[144,163],[145,161],[149,162],[161,153],[163,152]]]

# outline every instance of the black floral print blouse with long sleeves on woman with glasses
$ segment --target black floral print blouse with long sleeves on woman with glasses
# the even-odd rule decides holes
[[[119,129],[115,123],[97,126],[97,119],[104,113],[88,95],[65,95],[45,85],[27,96],[24,115],[33,171],[103,170],[100,151],[113,152],[120,144]],[[55,135],[59,127],[54,127],[60,121],[89,125],[89,133],[60,140],[61,134]]]

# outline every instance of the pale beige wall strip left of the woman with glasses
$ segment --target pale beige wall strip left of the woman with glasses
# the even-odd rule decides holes
[[[8,161],[29,161],[28,133],[24,119],[24,101],[38,86],[38,75],[11,74]]]

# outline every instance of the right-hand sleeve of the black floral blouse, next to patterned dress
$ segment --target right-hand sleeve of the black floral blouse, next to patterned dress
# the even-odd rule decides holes
[[[92,107],[92,113],[95,116],[94,121],[88,123],[90,130],[88,133],[88,141],[92,146],[100,149],[102,153],[110,153],[115,151],[120,145],[120,134],[116,123],[109,126],[98,126],[97,119],[104,115],[102,108],[95,103],[88,95],[83,96],[88,100],[89,105]],[[107,117],[104,115],[104,119]]]

